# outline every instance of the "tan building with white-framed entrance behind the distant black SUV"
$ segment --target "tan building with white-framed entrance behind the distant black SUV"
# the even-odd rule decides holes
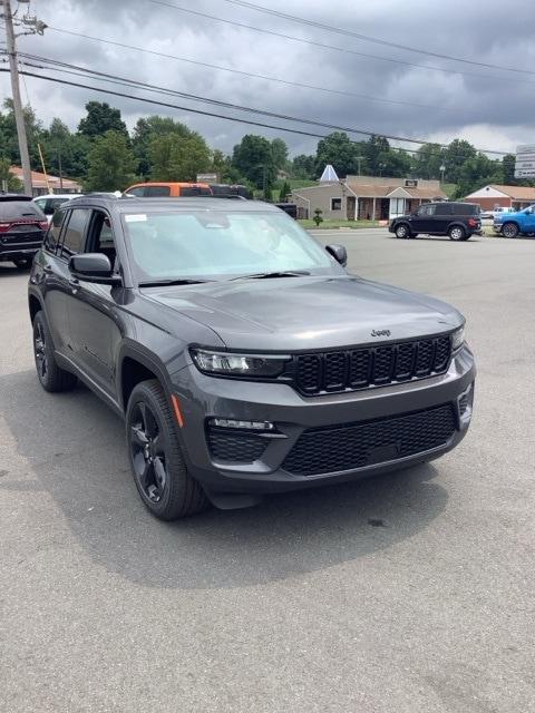
[[[328,219],[356,221],[389,218],[416,211],[422,203],[446,201],[438,180],[348,176],[292,191],[299,217],[313,217],[320,208]]]

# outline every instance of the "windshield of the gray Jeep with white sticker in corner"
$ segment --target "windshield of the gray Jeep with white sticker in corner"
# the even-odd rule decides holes
[[[124,226],[140,282],[342,271],[282,212],[130,213],[124,215]]]

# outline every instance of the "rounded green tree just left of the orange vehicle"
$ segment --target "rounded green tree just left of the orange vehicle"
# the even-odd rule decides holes
[[[98,136],[89,152],[86,191],[124,191],[134,183],[136,157],[121,131]]]

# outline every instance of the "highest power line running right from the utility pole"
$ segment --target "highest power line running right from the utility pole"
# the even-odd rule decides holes
[[[113,47],[120,47],[123,49],[130,49],[136,52],[144,52],[145,55],[153,55],[155,57],[164,57],[165,59],[173,59],[181,62],[186,62],[188,65],[195,65],[197,67],[204,67],[205,69],[216,69],[217,71],[226,71],[233,75],[239,75],[242,77],[251,77],[253,79],[263,79],[266,81],[273,81],[281,85],[286,85],[289,87],[298,87],[300,89],[313,89],[314,91],[324,91],[327,94],[339,95],[343,97],[354,97],[357,99],[368,99],[370,101],[380,101],[385,104],[393,104],[400,106],[407,106],[418,109],[435,109],[437,111],[456,111],[458,114],[458,109],[450,109],[448,107],[437,107],[430,106],[426,104],[414,104],[411,101],[401,101],[397,99],[387,99],[383,97],[371,97],[369,95],[357,94],[354,91],[344,91],[342,89],[329,89],[327,87],[319,87],[315,85],[309,85],[300,81],[290,81],[289,79],[281,79],[280,77],[270,77],[268,75],[260,75],[256,72],[244,71],[242,69],[233,69],[231,67],[222,67],[221,65],[211,65],[210,62],[201,62],[198,60],[189,59],[186,57],[178,57],[177,55],[167,55],[166,52],[158,52],[156,50],[146,49],[145,47],[136,47],[135,45],[126,45],[124,42],[117,42],[115,40],[107,40],[101,37],[94,37],[91,35],[85,35],[82,32],[76,32],[74,30],[66,30],[57,27],[49,27],[49,30],[54,30],[55,32],[62,32],[64,35],[71,35],[74,37],[80,37],[86,40],[91,40],[94,42],[100,42],[104,45],[110,45]]]

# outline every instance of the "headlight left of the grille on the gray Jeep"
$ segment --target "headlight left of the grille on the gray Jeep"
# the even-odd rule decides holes
[[[227,377],[279,377],[289,356],[264,356],[256,354],[233,354],[191,349],[192,359],[200,371],[206,374]]]

